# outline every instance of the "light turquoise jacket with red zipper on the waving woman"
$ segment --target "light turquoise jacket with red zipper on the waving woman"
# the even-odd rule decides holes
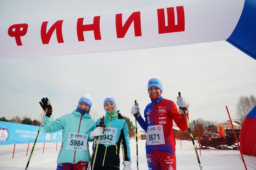
[[[81,113],[76,112],[75,110],[72,113],[61,116],[55,121],[53,115],[50,117],[45,116],[43,121],[43,129],[46,133],[53,133],[62,129],[62,145],[57,158],[58,164],[76,164],[79,161],[90,161],[88,142],[93,141],[93,139],[90,138],[89,133],[92,131],[94,124],[95,120],[92,119],[91,115],[81,115]],[[70,150],[70,148],[67,147],[67,143],[72,143],[74,145],[74,140],[71,141],[71,139],[68,140],[68,138],[71,138],[71,136],[73,136],[75,133],[84,134],[83,136],[88,135],[88,142],[81,143],[82,145],[87,145],[86,150]]]

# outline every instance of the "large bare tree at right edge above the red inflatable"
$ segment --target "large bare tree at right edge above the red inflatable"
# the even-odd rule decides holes
[[[247,113],[256,105],[256,98],[253,95],[241,96],[236,104],[236,116],[244,120]]]

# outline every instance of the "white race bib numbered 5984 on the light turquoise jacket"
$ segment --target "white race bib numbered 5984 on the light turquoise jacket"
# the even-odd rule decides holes
[[[69,132],[67,137],[67,150],[87,150],[88,134]]]

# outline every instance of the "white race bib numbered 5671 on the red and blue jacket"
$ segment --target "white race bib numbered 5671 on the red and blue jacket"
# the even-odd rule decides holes
[[[148,126],[147,145],[163,145],[164,134],[162,125]]]

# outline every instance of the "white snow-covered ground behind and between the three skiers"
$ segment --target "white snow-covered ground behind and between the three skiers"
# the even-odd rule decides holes
[[[135,139],[131,139],[130,142],[132,169],[136,170]],[[139,170],[148,170],[145,152],[145,142],[146,140],[138,141]],[[90,144],[90,149],[92,148],[91,145],[92,143]],[[45,149],[44,154],[42,154],[42,150],[34,150],[33,156],[28,166],[28,170],[56,170],[56,158],[58,155],[58,151],[54,151],[53,148]],[[230,151],[218,151],[220,152],[220,154],[216,154],[216,151],[214,151],[214,155],[211,154],[210,152],[211,151],[202,151],[202,155],[199,156],[203,170],[245,170],[243,162],[240,157],[236,155],[229,155],[225,157],[222,156],[225,155],[225,153],[223,152],[229,153]],[[28,153],[28,156],[26,157],[26,152],[17,152],[15,153],[13,159],[12,153],[0,155],[0,170],[25,170],[29,154],[30,151]],[[121,154],[120,157],[122,159]],[[180,141],[176,141],[176,159],[177,170],[200,170],[195,156],[195,150],[193,148],[191,141],[182,141],[182,149],[180,146]],[[247,169],[255,170],[249,166],[247,166]]]

